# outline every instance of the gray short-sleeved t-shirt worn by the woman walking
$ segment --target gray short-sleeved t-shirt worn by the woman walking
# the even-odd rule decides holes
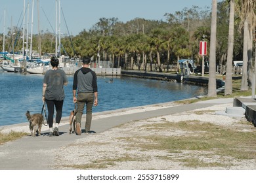
[[[68,82],[66,73],[61,69],[49,70],[45,73],[43,83],[47,84],[45,99],[62,101],[65,98],[64,83]]]

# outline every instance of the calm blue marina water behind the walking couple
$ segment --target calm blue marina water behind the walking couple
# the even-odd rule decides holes
[[[74,108],[73,76],[68,76],[68,80],[62,116],[69,116]],[[129,77],[114,78],[113,83],[106,82],[108,80],[110,78],[98,76],[98,107],[94,107],[93,112],[177,101],[207,93],[207,88],[202,86],[160,80]],[[32,114],[41,112],[43,75],[0,71],[0,84],[0,126],[27,122],[27,110]]]

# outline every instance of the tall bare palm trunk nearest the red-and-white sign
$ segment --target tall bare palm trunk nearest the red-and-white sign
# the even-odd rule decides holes
[[[208,97],[217,97],[216,92],[216,29],[217,29],[217,0],[212,1],[211,12],[211,44],[209,58]]]

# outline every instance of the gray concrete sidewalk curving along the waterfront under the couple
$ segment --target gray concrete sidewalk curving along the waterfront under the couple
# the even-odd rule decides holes
[[[211,107],[224,103],[233,103],[233,99],[213,99],[209,101],[201,101],[188,105],[179,105],[175,107],[166,107],[158,110],[150,110],[145,112],[137,112],[133,114],[123,114],[120,116],[112,116],[93,120],[91,130],[100,133],[117,125],[125,124],[136,120],[144,120],[157,116],[175,114],[194,110],[197,108]],[[102,112],[107,114],[108,112]],[[68,122],[68,118],[63,118],[63,122]],[[27,124],[26,124],[27,125]],[[50,170],[51,165],[56,158],[53,154],[56,148],[68,146],[77,139],[86,138],[86,135],[69,134],[69,125],[62,125],[59,128],[60,136],[48,137],[49,131],[42,131],[39,137],[26,136],[16,141],[7,142],[0,145],[0,169],[1,170]],[[82,125],[83,129],[83,125]]]

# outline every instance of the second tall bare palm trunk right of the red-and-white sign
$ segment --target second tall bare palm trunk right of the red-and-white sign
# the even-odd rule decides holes
[[[228,28],[228,57],[226,61],[226,82],[224,95],[232,95],[232,61],[234,49],[234,0],[230,0]]]

